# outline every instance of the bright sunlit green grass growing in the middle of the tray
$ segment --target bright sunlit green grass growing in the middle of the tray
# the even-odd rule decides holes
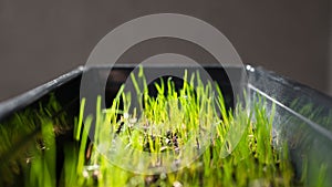
[[[112,158],[116,164],[123,163],[125,169],[111,164],[103,154],[96,152],[96,146],[92,146],[92,155],[87,158],[87,163],[80,159],[80,155],[82,156],[89,146],[83,134],[79,159],[73,158],[73,162],[79,160],[77,169],[72,176],[64,175],[76,178],[71,185],[294,185],[294,174],[287,147],[278,150],[272,146],[273,117],[267,116],[264,103],[262,101],[256,103],[255,111],[249,114],[248,110],[240,105],[235,112],[226,111],[220,90],[217,90],[218,93],[212,93],[212,83],[204,85],[198,74],[193,74],[190,79],[185,74],[184,87],[179,92],[175,91],[174,82],[168,80],[156,85],[157,97],[149,97],[147,85],[144,83],[144,73],[139,73],[137,77],[132,75],[137,95],[143,97],[138,100],[138,108],[131,110],[131,93],[120,92],[111,108],[107,110],[100,108],[98,100],[95,126],[100,128],[96,131],[94,143],[107,147],[125,146],[126,148],[117,147],[117,152],[112,152]],[[143,81],[143,87],[138,86],[139,81]],[[198,86],[191,87],[195,81]],[[120,110],[121,100],[124,103],[123,110]],[[83,107],[84,105],[81,110]],[[138,110],[142,111],[139,116],[137,116]],[[82,121],[80,116],[80,122]],[[91,121],[90,116],[84,123],[84,127],[87,126],[86,131]],[[76,128],[82,128],[82,124],[79,123]],[[238,142],[237,136],[234,136],[237,134],[242,134]],[[112,142],[114,137],[118,141]],[[204,147],[209,142],[211,144]],[[191,147],[181,149],[185,145]],[[168,160],[169,155],[174,162],[181,164],[186,162],[183,160],[185,157],[190,158],[193,152],[198,154],[199,149],[204,149],[203,154],[179,170],[167,170],[173,163],[160,160]],[[131,167],[135,170],[135,167],[142,164],[139,158],[143,154],[153,155],[148,162],[143,160],[145,165],[143,168],[165,166],[166,170],[157,175],[142,175],[126,170]],[[126,167],[125,163],[128,162],[126,157],[131,158],[131,167]],[[94,169],[89,170],[87,167],[92,166],[95,166]]]

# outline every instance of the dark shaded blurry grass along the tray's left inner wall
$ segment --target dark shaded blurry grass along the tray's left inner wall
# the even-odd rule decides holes
[[[55,136],[70,129],[66,122],[51,94],[0,124],[0,186],[55,186]]]

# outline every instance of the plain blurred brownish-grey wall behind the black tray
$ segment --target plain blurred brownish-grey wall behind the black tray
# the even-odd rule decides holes
[[[83,65],[115,27],[160,12],[205,20],[230,40],[245,63],[332,95],[331,8],[330,0],[0,0],[0,101]],[[206,60],[195,46],[175,43],[149,41],[120,61],[163,52],[158,45]]]

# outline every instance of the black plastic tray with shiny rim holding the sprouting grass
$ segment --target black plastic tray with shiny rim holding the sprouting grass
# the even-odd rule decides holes
[[[251,67],[249,65],[246,67],[249,81],[245,85],[248,89],[245,100],[250,102],[258,97],[263,97],[268,102],[269,110],[272,103],[276,104],[273,133],[278,138],[289,142],[297,177],[302,175],[303,166],[307,165],[308,185],[312,186],[317,184],[319,170],[323,166],[325,167],[326,176],[324,186],[332,186],[332,98],[261,67]],[[108,67],[79,67],[18,97],[0,103],[0,124],[19,111],[37,108],[40,103],[48,101],[51,93],[55,94],[63,106],[63,112],[69,115],[69,123],[72,123],[73,117],[79,114],[80,85],[83,72],[95,77],[95,84],[93,85],[96,87],[101,86],[98,85],[100,82],[106,80],[104,91],[105,95],[107,95],[105,103],[108,105],[133,69],[133,65],[117,65],[108,74]],[[157,69],[162,67],[152,67],[152,70],[145,71],[157,71]],[[163,71],[165,69],[172,71],[172,69],[178,67],[163,69]],[[232,89],[241,89],[241,73],[239,67],[228,66],[225,69],[235,74],[238,73],[238,85],[230,86],[222,67],[205,66],[212,80],[221,86],[227,106],[234,107]],[[54,117],[56,115],[54,114]],[[29,141],[29,135],[22,137],[22,142]],[[22,143],[18,143],[18,146],[14,147],[20,148],[20,144]],[[0,153],[0,163],[6,162],[9,156],[6,153]]]

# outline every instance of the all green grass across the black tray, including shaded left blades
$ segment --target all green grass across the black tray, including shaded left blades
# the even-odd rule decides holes
[[[101,108],[98,97],[95,114],[86,118],[83,118],[85,100],[82,100],[80,115],[74,122],[74,142],[63,148],[64,164],[59,180],[55,174],[55,168],[60,167],[55,163],[59,133],[54,129],[63,122],[52,120],[42,107],[14,118],[15,124],[27,124],[31,122],[30,116],[35,116],[29,129],[41,127],[39,136],[33,136],[39,146],[30,146],[34,148],[25,148],[20,153],[23,156],[14,158],[18,167],[22,167],[24,186],[301,185],[293,179],[287,144],[273,146],[274,111],[272,107],[268,114],[264,101],[257,101],[252,111],[246,104],[227,111],[221,91],[217,87],[214,93],[216,85],[203,84],[199,74],[185,74],[179,92],[172,80],[162,81],[155,85],[156,97],[148,96],[143,69],[137,76],[131,77],[136,94],[143,98],[138,100],[136,108],[132,103],[137,98],[124,93],[125,85],[110,108]],[[138,83],[143,83],[143,87]],[[194,83],[196,87],[190,86]],[[50,104],[51,108],[59,107],[55,101],[50,103],[54,105]],[[89,141],[92,126],[95,127],[93,144]],[[8,137],[8,128],[0,128],[0,133],[4,139],[1,153],[6,153],[20,134]],[[101,147],[115,152],[101,153]],[[22,158],[27,150],[32,155],[29,162]],[[143,159],[143,155],[149,159]],[[195,155],[199,157],[190,163]],[[179,169],[174,169],[175,165],[179,165]],[[1,172],[12,173],[10,166],[6,165]],[[153,168],[154,175],[151,174]],[[15,185],[11,180],[13,176],[2,184]]]

